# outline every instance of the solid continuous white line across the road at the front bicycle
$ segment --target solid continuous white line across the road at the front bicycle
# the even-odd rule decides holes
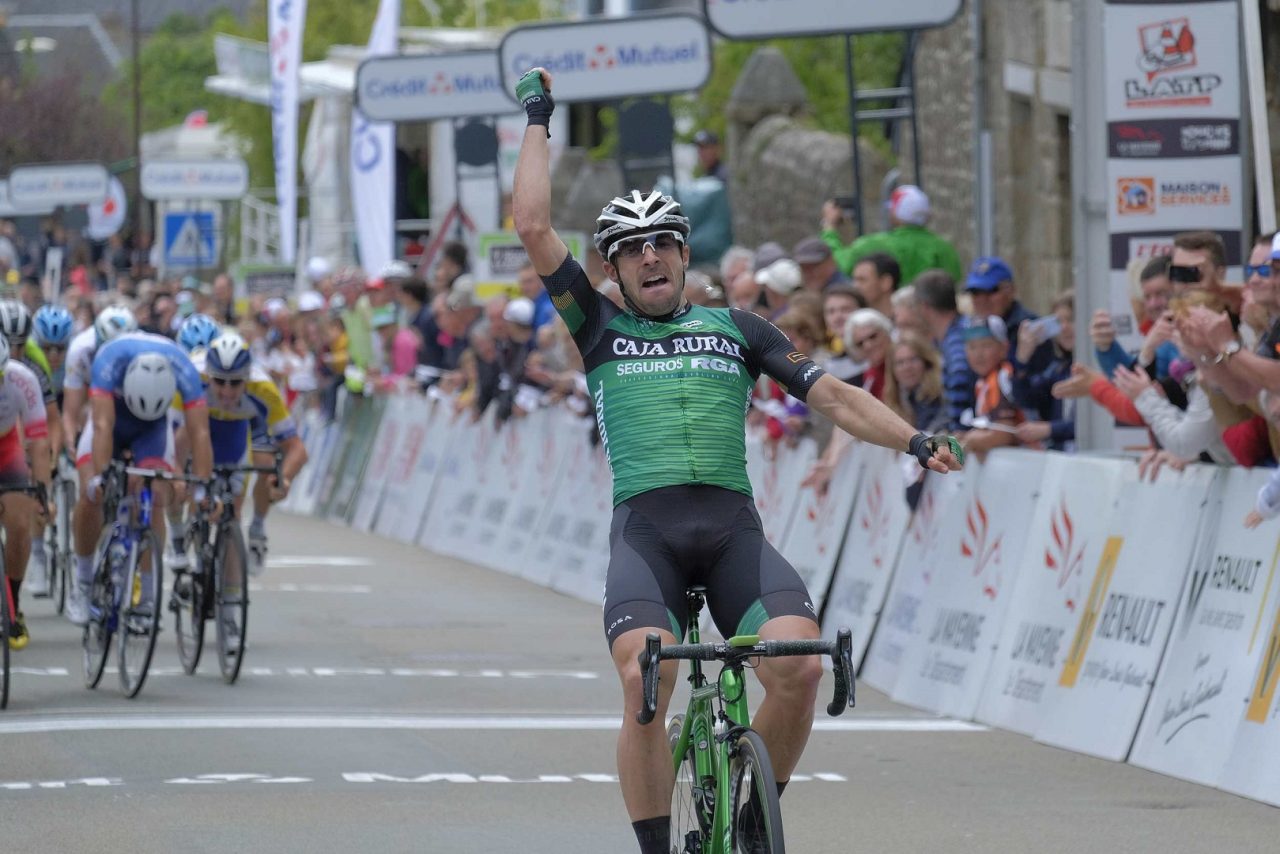
[[[616,731],[612,716],[530,717],[518,714],[120,714],[0,720],[0,735],[148,730],[451,730],[451,731]],[[819,732],[987,732],[987,727],[946,718],[850,718],[814,721]]]

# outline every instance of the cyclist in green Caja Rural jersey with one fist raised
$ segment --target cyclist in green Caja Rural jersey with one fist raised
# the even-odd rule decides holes
[[[550,74],[538,68],[516,90],[529,115],[516,164],[516,230],[582,352],[613,469],[604,632],[626,704],[618,776],[640,850],[669,854],[675,769],[667,735],[635,717],[645,635],[658,630],[662,643],[677,643],[687,621],[685,592],[701,584],[724,636],[818,638],[813,600],[764,539],[751,499],[745,419],[756,378],[768,374],[841,429],[911,453],[922,466],[945,472],[960,461],[945,437],[915,433],[863,389],[827,376],[767,320],[686,302],[690,225],[669,196],[631,191],[600,211],[595,248],[626,307],[600,297],[550,224]],[[822,666],[815,657],[765,658],[756,675],[765,698],[753,727],[768,745],[781,793],[809,737]],[[675,662],[664,663],[659,720],[675,676]]]

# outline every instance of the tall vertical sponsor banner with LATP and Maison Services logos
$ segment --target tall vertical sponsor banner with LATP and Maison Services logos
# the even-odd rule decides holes
[[[1240,264],[1240,36],[1234,0],[1107,0],[1106,104],[1111,312],[1139,343],[1126,268],[1210,229]]]

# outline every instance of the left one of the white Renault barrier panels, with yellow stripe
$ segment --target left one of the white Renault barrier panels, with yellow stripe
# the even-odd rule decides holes
[[[1120,488],[1107,543],[1036,739],[1123,762],[1156,681],[1178,593],[1216,501],[1211,466]]]

